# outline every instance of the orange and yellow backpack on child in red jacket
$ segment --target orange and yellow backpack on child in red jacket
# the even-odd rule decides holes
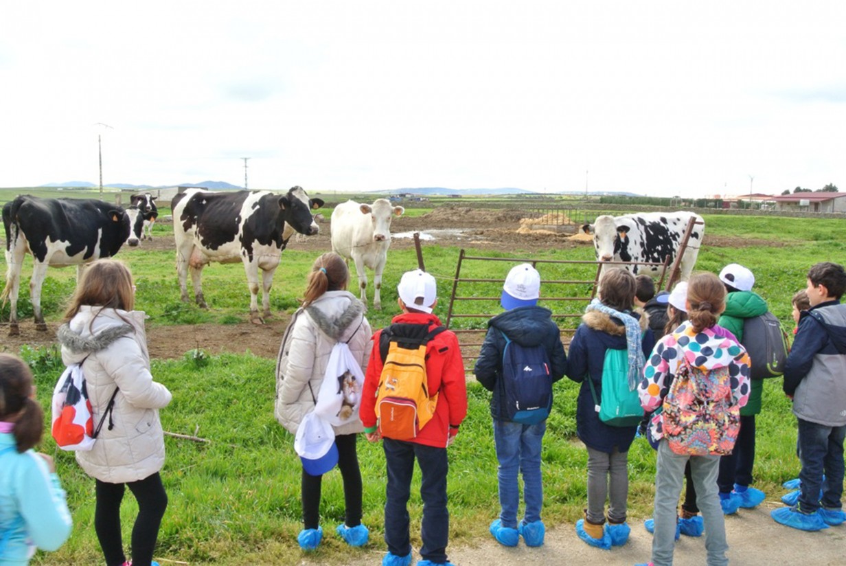
[[[428,324],[393,324],[382,330],[382,376],[376,387],[376,419],[382,437],[411,440],[435,415],[437,395],[429,391],[426,344],[446,330]]]

